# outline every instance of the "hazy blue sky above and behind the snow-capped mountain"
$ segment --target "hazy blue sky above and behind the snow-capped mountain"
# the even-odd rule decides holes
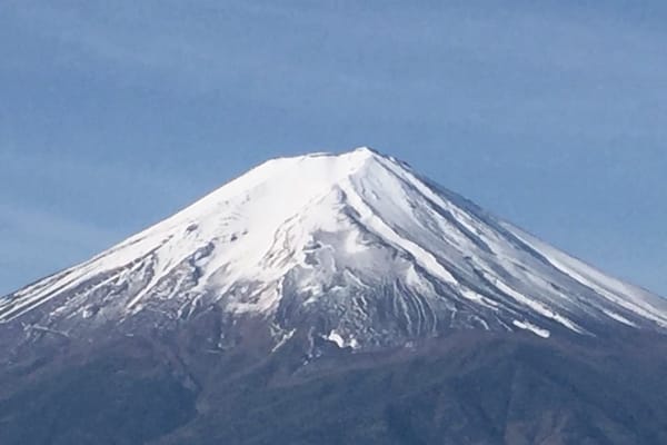
[[[667,296],[665,1],[0,2],[0,294],[371,146]]]

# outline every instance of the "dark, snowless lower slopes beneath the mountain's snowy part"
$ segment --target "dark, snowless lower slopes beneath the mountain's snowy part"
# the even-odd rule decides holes
[[[667,443],[664,337],[467,332],[375,354],[323,344],[307,365],[298,343],[262,359],[179,342],[71,346],[7,367],[0,443]]]

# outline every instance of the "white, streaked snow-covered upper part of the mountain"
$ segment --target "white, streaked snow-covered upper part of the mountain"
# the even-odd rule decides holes
[[[270,160],[91,260],[0,299],[0,323],[68,336],[217,310],[364,348],[448,329],[667,328],[624,284],[359,148]]]

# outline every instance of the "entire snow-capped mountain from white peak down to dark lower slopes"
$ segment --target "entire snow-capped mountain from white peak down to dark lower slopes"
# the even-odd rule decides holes
[[[400,160],[281,158],[0,299],[0,442],[665,443],[666,333]]]

